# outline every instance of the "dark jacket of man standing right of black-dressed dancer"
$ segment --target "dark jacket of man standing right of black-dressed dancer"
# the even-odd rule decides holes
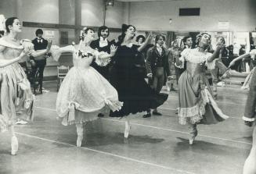
[[[164,66],[164,75],[171,76],[171,71],[169,67],[168,57],[170,56],[170,51],[166,48],[163,48],[161,55],[157,51],[157,47],[154,46],[147,51],[146,54],[146,73],[152,73],[154,76],[154,71],[157,68],[157,59],[162,59]]]

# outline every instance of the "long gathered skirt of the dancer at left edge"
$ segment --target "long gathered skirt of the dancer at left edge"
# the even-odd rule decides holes
[[[33,120],[34,95],[27,76],[18,63],[0,68],[0,132],[17,119]]]

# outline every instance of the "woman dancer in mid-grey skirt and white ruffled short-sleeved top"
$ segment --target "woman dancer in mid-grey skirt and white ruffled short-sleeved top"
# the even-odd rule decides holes
[[[208,69],[215,68],[213,60],[218,58],[223,44],[218,41],[216,51],[211,54],[207,52],[207,47],[211,43],[210,34],[197,35],[197,42],[197,48],[185,49],[182,51],[182,57],[176,60],[177,65],[182,65],[186,61],[186,70],[178,80],[178,116],[180,124],[189,124],[192,134],[189,144],[193,144],[197,137],[198,123],[212,124],[228,118],[212,98],[211,88],[205,76],[205,66],[207,65]]]

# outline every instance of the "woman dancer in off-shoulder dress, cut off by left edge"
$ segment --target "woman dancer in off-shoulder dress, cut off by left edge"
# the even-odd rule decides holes
[[[31,41],[19,41],[20,21],[11,17],[5,21],[6,34],[0,39],[0,132],[10,129],[12,154],[18,151],[18,140],[14,132],[16,119],[33,119],[34,95],[19,61],[24,55],[39,56],[48,50],[34,51]],[[21,44],[22,43],[22,44]]]

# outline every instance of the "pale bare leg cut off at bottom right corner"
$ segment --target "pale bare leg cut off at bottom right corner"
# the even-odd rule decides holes
[[[243,165],[243,174],[255,174],[256,173],[256,126],[254,126],[253,132],[253,144],[251,152]]]

